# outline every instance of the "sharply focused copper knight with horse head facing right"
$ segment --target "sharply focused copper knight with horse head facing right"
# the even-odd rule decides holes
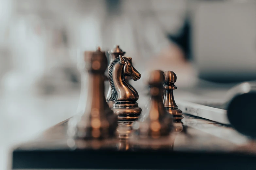
[[[130,76],[136,81],[141,78],[141,74],[133,67],[131,58],[119,55],[109,65],[108,75],[111,87],[111,96],[108,100],[115,102],[112,110],[118,116],[118,120],[137,120],[142,112],[136,102],[139,94],[125,80],[125,76]]]

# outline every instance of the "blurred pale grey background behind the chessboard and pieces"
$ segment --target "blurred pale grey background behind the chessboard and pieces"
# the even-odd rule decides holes
[[[0,168],[84,107],[84,50],[120,45],[142,74],[136,89],[147,71],[172,70],[175,98],[221,99],[256,79],[255,18],[255,0],[0,0]]]

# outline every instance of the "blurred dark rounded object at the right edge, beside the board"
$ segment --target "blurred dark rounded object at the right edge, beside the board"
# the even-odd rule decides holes
[[[229,91],[227,105],[230,123],[240,133],[256,138],[256,82],[242,83]]]

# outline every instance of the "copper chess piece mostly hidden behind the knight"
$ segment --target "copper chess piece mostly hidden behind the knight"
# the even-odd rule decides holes
[[[125,55],[125,51],[121,50],[119,48],[119,45],[114,46],[114,48],[111,51],[108,51],[109,55],[110,55],[110,64],[112,63],[112,61],[114,61],[114,59],[116,59],[117,57],[119,57],[119,55],[124,56]],[[109,105],[110,108],[113,107],[113,104],[115,103],[114,101],[109,100],[111,96],[111,86],[109,87],[109,91],[106,97],[107,103]]]

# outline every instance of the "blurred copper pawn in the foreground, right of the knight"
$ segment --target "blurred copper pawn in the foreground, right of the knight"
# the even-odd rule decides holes
[[[133,124],[135,134],[142,138],[157,139],[168,136],[172,131],[172,115],[166,111],[162,103],[163,81],[161,70],[150,73],[148,78],[150,103],[144,116]]]

